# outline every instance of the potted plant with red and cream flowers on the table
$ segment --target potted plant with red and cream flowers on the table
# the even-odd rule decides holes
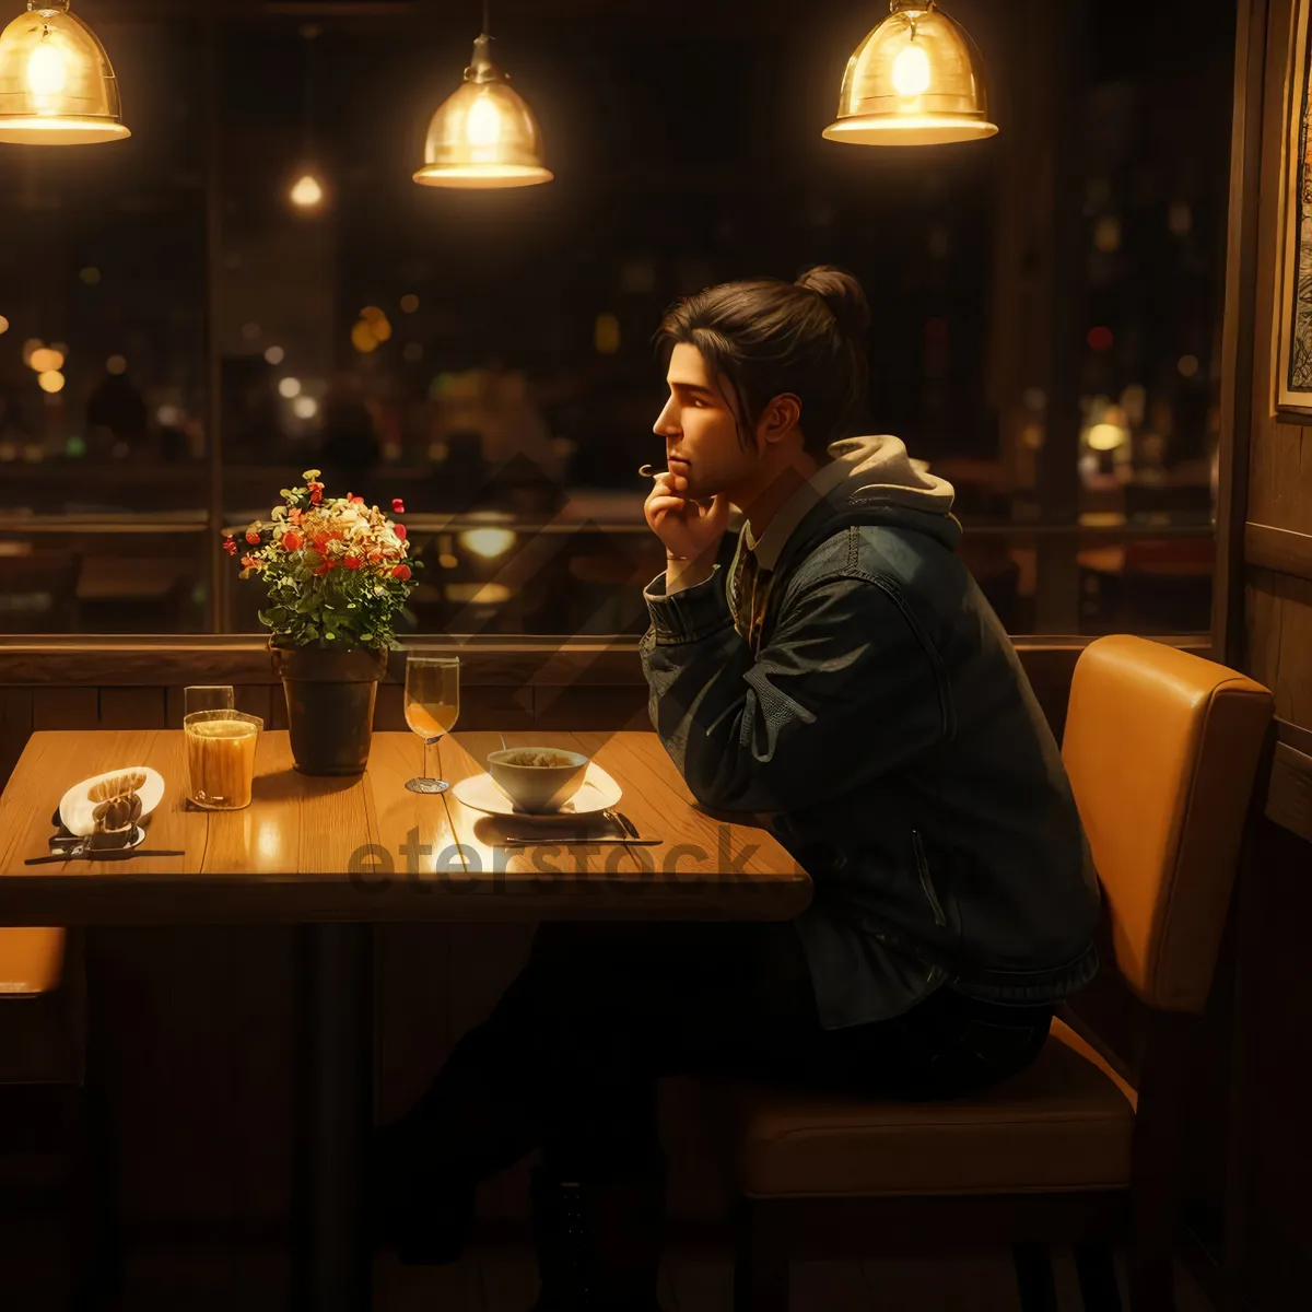
[[[291,756],[302,774],[359,774],[369,762],[374,698],[399,647],[396,617],[415,589],[405,526],[348,493],[325,497],[319,470],[283,488],[269,521],[245,530],[241,577],[258,577],[269,605],[273,668],[287,697]],[[392,501],[392,513],[405,506]]]

